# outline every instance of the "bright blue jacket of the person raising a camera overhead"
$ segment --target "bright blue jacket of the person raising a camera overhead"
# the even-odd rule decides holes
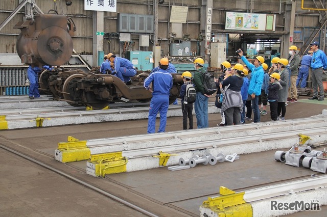
[[[265,71],[262,68],[262,65],[255,67],[252,63],[250,63],[244,56],[241,57],[242,61],[246,64],[247,68],[251,70],[251,79],[249,83],[249,89],[247,91],[248,94],[255,96],[260,96],[261,94],[261,86],[264,81]]]

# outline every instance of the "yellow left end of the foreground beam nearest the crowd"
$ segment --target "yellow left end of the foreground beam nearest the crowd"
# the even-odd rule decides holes
[[[89,159],[91,152],[86,142],[86,140],[80,141],[69,136],[67,142],[58,143],[58,150],[62,154],[62,162],[75,162]]]

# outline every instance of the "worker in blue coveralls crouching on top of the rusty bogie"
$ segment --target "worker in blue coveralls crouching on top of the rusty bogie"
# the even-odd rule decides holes
[[[116,57],[112,53],[108,54],[108,59],[114,65],[112,74],[116,74],[127,85],[132,84],[131,77],[136,75],[135,66],[127,59]]]

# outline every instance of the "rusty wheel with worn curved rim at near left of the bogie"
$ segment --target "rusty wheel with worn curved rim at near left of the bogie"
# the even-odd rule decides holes
[[[63,84],[62,87],[62,92],[63,93],[63,98],[68,100],[68,104],[73,105],[73,106],[82,106],[83,103],[81,101],[76,101],[76,99],[80,99],[81,97],[79,97],[79,93],[77,92],[77,90],[72,87],[72,84],[74,84],[74,82],[76,82],[77,80],[80,80],[82,78],[84,78],[85,75],[83,74],[73,74],[71,76],[69,76],[66,80],[65,83]],[[73,102],[72,102],[73,101]]]

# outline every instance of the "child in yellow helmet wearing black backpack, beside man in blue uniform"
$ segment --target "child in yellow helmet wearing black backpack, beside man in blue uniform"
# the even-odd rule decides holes
[[[183,113],[183,129],[188,129],[188,118],[190,128],[193,129],[193,102],[196,100],[196,91],[191,83],[192,74],[189,71],[183,72],[182,76],[184,84],[180,88],[179,97],[182,103]]]

